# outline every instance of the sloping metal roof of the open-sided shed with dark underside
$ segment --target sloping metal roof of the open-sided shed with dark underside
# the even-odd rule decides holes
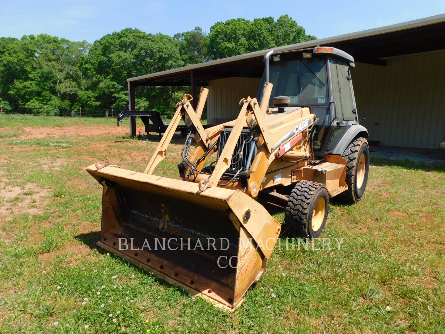
[[[321,38],[274,48],[274,53],[329,45],[351,54],[356,61],[386,65],[384,58],[445,49],[445,14],[380,28]],[[271,49],[169,69],[127,79],[134,86],[206,85],[224,77],[261,77],[263,57]]]

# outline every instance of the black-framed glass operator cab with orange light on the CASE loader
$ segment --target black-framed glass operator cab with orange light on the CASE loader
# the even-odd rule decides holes
[[[274,53],[270,59],[268,77],[273,88],[269,112],[310,107],[316,115],[313,144],[317,156],[332,152],[348,127],[358,124],[349,67],[354,67],[352,56],[332,47]],[[266,77],[265,71],[259,101]]]

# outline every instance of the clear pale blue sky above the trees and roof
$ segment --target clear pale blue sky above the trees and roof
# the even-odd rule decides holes
[[[0,37],[47,33],[94,42],[130,27],[173,36],[217,21],[288,14],[306,32],[330,37],[445,12],[444,0],[262,1],[262,0],[0,0]]]

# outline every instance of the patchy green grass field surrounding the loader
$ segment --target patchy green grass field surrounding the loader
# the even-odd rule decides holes
[[[344,238],[341,250],[275,250],[228,314],[93,247],[101,186],[84,168],[105,161],[143,171],[157,141],[20,139],[22,126],[79,124],[115,126],[103,118],[0,117],[9,128],[1,132],[16,134],[0,138],[0,177],[8,187],[36,185],[1,208],[45,194],[28,204],[38,213],[0,213],[1,333],[445,331],[443,164],[373,159],[364,199],[331,204],[323,236]],[[183,138],[174,140],[159,175],[177,176]],[[283,221],[283,212],[271,213]]]

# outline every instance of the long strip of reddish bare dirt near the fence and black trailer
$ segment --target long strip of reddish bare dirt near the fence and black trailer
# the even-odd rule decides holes
[[[125,135],[129,133],[128,126],[63,126],[63,127],[38,127],[25,126],[24,134],[21,139],[29,138],[45,138],[45,137],[61,137],[61,136],[95,136],[98,134],[117,134]],[[144,126],[136,126],[137,134],[144,134]]]

